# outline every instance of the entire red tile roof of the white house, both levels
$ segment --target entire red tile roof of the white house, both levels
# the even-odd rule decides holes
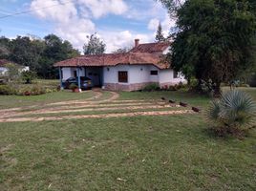
[[[140,44],[129,53],[104,53],[83,55],[54,64],[55,67],[76,66],[116,66],[118,64],[148,64],[160,69],[168,68],[161,58],[162,52],[170,46],[170,42]]]

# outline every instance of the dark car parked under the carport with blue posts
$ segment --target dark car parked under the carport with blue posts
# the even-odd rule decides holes
[[[89,77],[81,76],[80,81],[81,81],[81,89],[82,90],[91,90],[93,88],[92,79],[90,79]],[[78,77],[70,77],[70,78],[66,79],[62,83],[62,86],[64,89],[69,89],[71,84],[75,84],[78,86]]]

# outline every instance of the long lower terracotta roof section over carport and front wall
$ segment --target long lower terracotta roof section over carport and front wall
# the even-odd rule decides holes
[[[168,68],[158,54],[154,53],[105,53],[97,55],[83,55],[63,60],[54,64],[55,67],[77,66],[117,66],[118,64],[130,65],[155,65],[160,69]]]

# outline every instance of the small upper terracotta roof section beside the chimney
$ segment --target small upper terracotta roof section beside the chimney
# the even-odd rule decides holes
[[[170,42],[156,42],[156,43],[146,43],[139,44],[137,47],[133,48],[131,52],[133,53],[161,53],[171,45]]]

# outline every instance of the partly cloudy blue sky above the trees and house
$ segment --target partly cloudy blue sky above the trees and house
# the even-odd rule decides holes
[[[30,11],[4,17],[16,12]],[[54,33],[82,50],[87,36],[96,33],[107,53],[154,42],[159,23],[168,34],[175,25],[157,0],[0,0],[0,36]]]

